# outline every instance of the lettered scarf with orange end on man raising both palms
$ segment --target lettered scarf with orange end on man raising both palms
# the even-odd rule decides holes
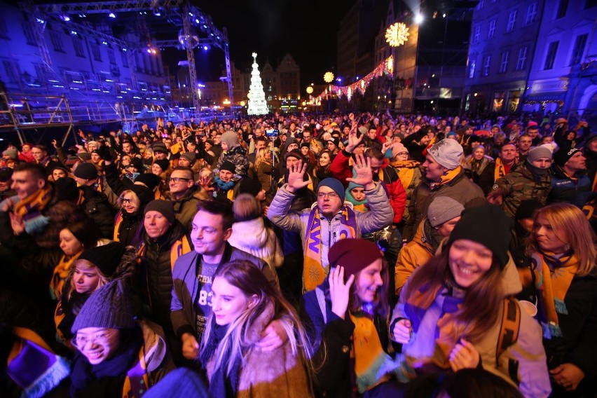
[[[346,205],[341,208],[340,227],[334,232],[334,241],[344,238],[357,238],[357,219],[355,212]],[[303,286],[306,291],[322,284],[326,270],[322,266],[322,215],[315,207],[309,214],[305,235],[305,263],[303,266]],[[333,242],[329,242],[329,247]]]

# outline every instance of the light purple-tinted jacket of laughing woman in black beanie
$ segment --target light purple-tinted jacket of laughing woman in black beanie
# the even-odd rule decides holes
[[[415,270],[415,273],[417,272],[425,272],[425,268],[418,268]],[[409,282],[406,282],[406,285],[408,284]],[[519,274],[512,259],[509,259],[502,271],[502,287],[505,297],[514,296],[522,289]],[[402,354],[409,359],[415,371],[424,369],[425,364],[430,364],[434,356],[438,355],[437,352],[441,351],[437,349],[437,344],[430,344],[430,341],[434,342],[438,336],[437,324],[446,296],[463,297],[464,294],[464,291],[457,288],[449,291],[447,287],[441,287],[430,308],[418,310],[418,319],[411,319],[413,334],[411,341],[402,345]],[[390,330],[393,329],[394,322],[409,318],[409,313],[417,312],[407,312],[405,296],[406,289],[402,289],[400,301],[392,313]],[[483,335],[481,341],[472,343],[481,355],[480,364],[483,369],[519,387],[525,397],[548,397],[551,387],[540,325],[526,313],[524,308],[521,308],[521,322],[516,343],[510,345],[500,357],[497,357],[496,347],[501,331],[502,311],[500,310],[493,327]],[[454,345],[456,343],[457,341],[454,341]]]

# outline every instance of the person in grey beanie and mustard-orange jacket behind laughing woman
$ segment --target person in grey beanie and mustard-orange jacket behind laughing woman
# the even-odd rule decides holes
[[[416,268],[425,265],[437,252],[442,241],[450,236],[465,207],[449,196],[436,196],[427,209],[413,240],[400,249],[396,262],[396,294]]]

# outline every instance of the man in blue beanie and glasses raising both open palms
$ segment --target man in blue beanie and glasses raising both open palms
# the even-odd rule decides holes
[[[288,183],[277,191],[268,210],[268,218],[275,225],[301,235],[303,291],[315,289],[329,273],[327,252],[334,242],[378,231],[389,226],[394,217],[383,187],[373,182],[370,162],[362,155],[356,158],[355,178],[347,180],[363,186],[369,212],[355,212],[345,205],[345,188],[335,178],[324,179],[317,186],[316,206],[291,211],[294,194],[309,184],[303,179],[306,170],[307,165],[301,161],[291,167]]]

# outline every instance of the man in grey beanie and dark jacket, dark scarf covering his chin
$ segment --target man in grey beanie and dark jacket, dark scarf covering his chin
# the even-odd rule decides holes
[[[551,191],[551,151],[547,146],[535,146],[528,151],[526,160],[517,163],[509,174],[495,181],[487,201],[501,205],[506,215],[514,218],[523,200],[536,199],[547,203]]]

